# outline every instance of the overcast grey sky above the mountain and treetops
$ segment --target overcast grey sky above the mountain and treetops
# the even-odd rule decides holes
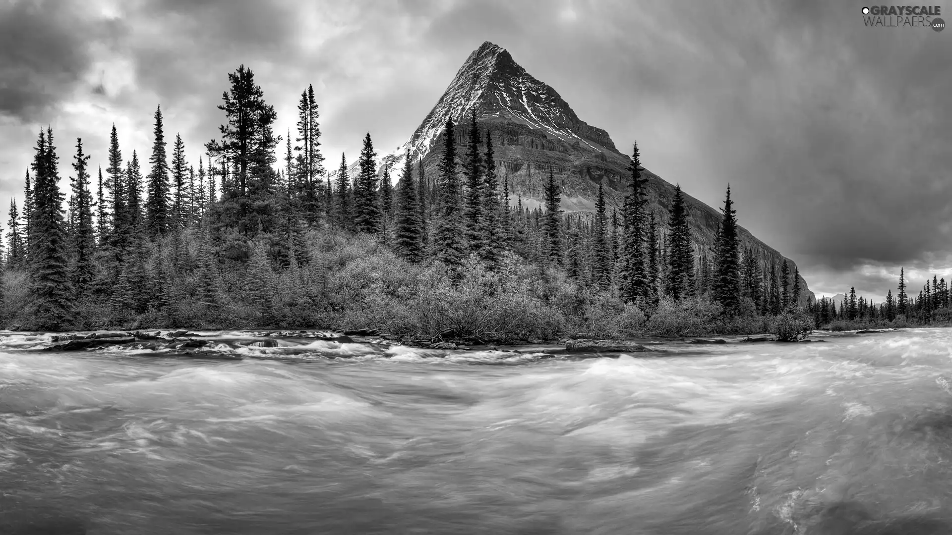
[[[148,154],[161,104],[197,162],[242,63],[282,130],[314,85],[330,167],[367,131],[394,149],[489,40],[618,147],[637,140],[668,182],[715,207],[730,183],[740,223],[818,294],[879,300],[900,266],[918,291],[952,275],[952,30],[865,28],[862,7],[0,0],[0,206],[21,194],[41,125],[66,176],[76,137],[104,164],[113,122],[124,155]]]

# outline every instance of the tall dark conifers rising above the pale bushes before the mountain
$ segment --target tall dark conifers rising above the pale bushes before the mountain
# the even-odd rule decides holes
[[[663,300],[709,300],[727,315],[799,308],[797,269],[785,260],[764,265],[741,250],[729,187],[709,254],[694,246],[680,186],[666,221],[649,209],[637,144],[624,202],[610,213],[601,184],[594,212],[564,213],[553,168],[537,169],[547,173],[541,206],[513,199],[507,174],[501,180],[496,168],[494,132],[481,129],[475,110],[465,139],[446,121],[434,177],[420,154],[407,152],[403,168],[392,169],[399,172],[394,186],[391,169],[377,168],[367,133],[355,176],[342,154],[330,180],[311,86],[300,96],[295,131],[283,137],[251,69],[229,73],[228,84],[218,106],[225,122],[197,168],[178,134],[169,158],[156,108],[148,172],[135,150],[124,157],[113,125],[108,165],[96,169],[94,182],[90,156],[76,140],[64,192],[53,131],[41,129],[23,204],[10,204],[7,293],[16,275],[27,295],[6,308],[8,322],[47,330],[103,322],[159,327],[188,322],[182,302],[190,303],[191,318],[225,314],[229,303],[241,302],[261,321],[280,322],[278,307],[327,301],[331,274],[320,258],[327,232],[370,237],[410,264],[439,263],[457,279],[471,262],[506,277],[507,259],[518,258],[648,315]],[[300,295],[279,305],[276,277],[296,277]]]

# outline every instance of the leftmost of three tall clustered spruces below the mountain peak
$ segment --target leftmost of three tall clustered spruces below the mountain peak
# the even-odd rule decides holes
[[[436,208],[436,228],[433,232],[433,256],[446,266],[457,268],[463,264],[466,244],[463,213],[460,208],[460,182],[456,175],[456,127],[452,118],[446,119],[437,187],[439,202]]]

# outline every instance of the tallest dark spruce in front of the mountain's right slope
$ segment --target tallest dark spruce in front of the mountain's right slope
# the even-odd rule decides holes
[[[628,193],[625,195],[623,217],[625,234],[621,253],[621,289],[625,301],[634,303],[648,296],[647,266],[645,264],[645,229],[643,208],[645,205],[645,185],[647,178],[642,177],[641,156],[638,144],[632,148],[628,171]]]

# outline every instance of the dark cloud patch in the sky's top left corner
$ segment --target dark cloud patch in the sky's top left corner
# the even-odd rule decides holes
[[[89,68],[89,27],[65,1],[0,4],[0,114],[32,121],[55,105]]]

